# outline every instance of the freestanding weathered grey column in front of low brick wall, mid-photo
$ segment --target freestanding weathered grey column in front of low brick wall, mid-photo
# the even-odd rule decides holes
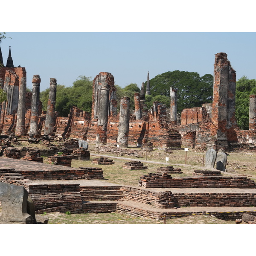
[[[119,144],[120,148],[128,147],[129,118],[130,98],[122,97],[120,101],[119,126],[117,136],[117,144]]]

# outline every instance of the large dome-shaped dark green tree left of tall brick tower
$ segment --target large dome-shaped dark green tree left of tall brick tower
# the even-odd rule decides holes
[[[195,72],[169,71],[151,79],[150,87],[152,99],[156,96],[170,98],[170,87],[176,88],[177,112],[180,113],[184,108],[201,107],[204,103],[212,102],[213,76],[207,74],[200,77]],[[167,98],[162,99],[169,107]]]

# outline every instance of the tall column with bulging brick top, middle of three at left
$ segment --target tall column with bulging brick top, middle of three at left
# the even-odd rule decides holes
[[[29,137],[34,137],[34,135],[38,134],[40,82],[41,82],[40,76],[34,75],[32,79],[33,87],[32,87]]]

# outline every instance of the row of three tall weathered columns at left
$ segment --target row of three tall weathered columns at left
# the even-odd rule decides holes
[[[40,82],[39,75],[34,75],[32,79],[32,101],[31,101],[31,115],[29,137],[34,137],[38,134],[38,120],[39,120],[39,102],[40,102]],[[44,135],[52,134],[55,125],[54,112],[56,102],[56,87],[57,82],[55,78],[50,79],[49,99],[47,105],[47,113],[44,127]],[[21,78],[19,87],[19,100],[17,108],[17,124],[15,133],[19,136],[25,132],[25,110],[26,110],[26,77]]]

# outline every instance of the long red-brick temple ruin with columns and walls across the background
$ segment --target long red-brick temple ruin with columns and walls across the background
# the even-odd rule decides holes
[[[117,113],[116,87],[111,73],[101,72],[94,78],[91,113],[73,107],[68,117],[55,113],[57,81],[53,78],[47,111],[42,111],[40,81],[40,76],[35,75],[32,93],[25,92],[26,70],[13,66],[9,50],[8,65],[0,68],[0,85],[7,94],[1,106],[0,134],[37,138],[53,135],[88,140],[96,145],[115,145],[125,123],[128,124],[125,133],[129,133],[125,147],[153,143],[160,148],[228,150],[256,143],[255,95],[250,96],[250,130],[239,130],[235,118],[236,71],[224,52],[215,55],[212,104],[183,109],[180,123],[177,122],[178,88],[170,88],[169,110],[161,102],[154,102],[151,109],[145,108],[145,95],[150,94],[149,72],[146,88],[143,82],[141,92],[134,94],[134,114],[127,113],[125,122],[119,122],[122,115]]]

